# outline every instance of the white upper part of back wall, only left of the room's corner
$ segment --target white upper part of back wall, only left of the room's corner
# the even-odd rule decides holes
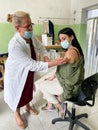
[[[17,10],[27,11],[35,23],[41,21],[39,17],[67,18],[70,0],[0,0],[0,22],[6,22],[7,14]]]

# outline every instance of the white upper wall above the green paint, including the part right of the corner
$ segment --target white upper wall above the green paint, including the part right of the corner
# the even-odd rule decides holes
[[[39,17],[65,18],[52,19],[54,23],[69,24],[81,23],[82,9],[98,4],[98,0],[0,0],[0,22],[6,22],[7,14],[17,10],[27,11],[32,22],[38,23]]]

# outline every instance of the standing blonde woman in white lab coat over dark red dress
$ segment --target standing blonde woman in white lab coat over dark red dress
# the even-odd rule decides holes
[[[15,12],[12,23],[16,34],[9,42],[8,59],[5,64],[4,100],[15,113],[15,119],[21,128],[26,125],[21,118],[20,108],[37,115],[29,102],[33,98],[34,72],[47,71],[49,67],[65,63],[62,58],[50,61],[46,50],[33,35],[31,18],[23,11]],[[37,61],[37,53],[43,55],[45,61]]]

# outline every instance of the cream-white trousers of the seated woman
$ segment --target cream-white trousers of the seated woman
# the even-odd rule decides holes
[[[36,89],[39,89],[43,93],[43,98],[48,102],[57,104],[58,100],[55,95],[61,95],[63,88],[61,87],[57,78],[49,80],[39,80],[35,82]]]

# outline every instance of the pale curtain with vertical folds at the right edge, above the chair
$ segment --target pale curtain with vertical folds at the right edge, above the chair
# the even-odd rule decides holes
[[[85,77],[98,72],[98,18],[87,21]]]

